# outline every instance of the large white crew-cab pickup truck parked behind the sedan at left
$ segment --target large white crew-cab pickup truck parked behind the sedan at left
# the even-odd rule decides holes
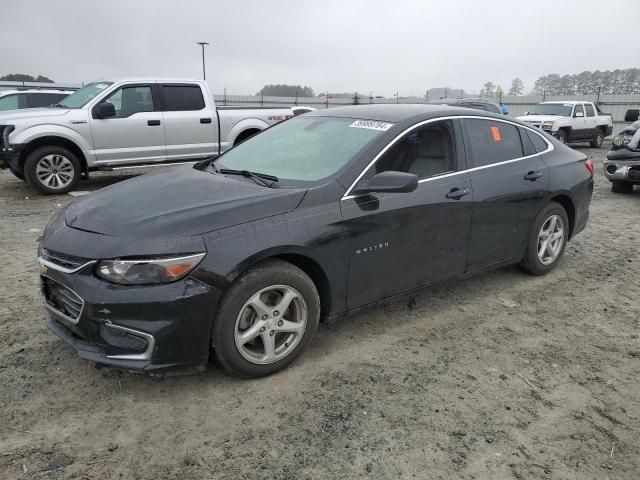
[[[197,161],[293,116],[216,107],[199,80],[95,82],[48,107],[0,113],[0,168],[44,194],[90,171]]]

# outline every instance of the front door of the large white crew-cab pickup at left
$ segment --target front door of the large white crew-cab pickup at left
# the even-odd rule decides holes
[[[97,163],[159,162],[166,158],[162,112],[151,85],[126,85],[103,102],[110,102],[115,117],[91,118]]]

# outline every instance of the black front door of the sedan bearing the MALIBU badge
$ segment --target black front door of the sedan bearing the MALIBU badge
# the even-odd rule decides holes
[[[363,179],[383,171],[416,174],[410,193],[350,195],[341,202],[348,308],[435,283],[464,271],[473,193],[458,127],[417,127],[391,146]],[[362,181],[362,180],[361,180]]]

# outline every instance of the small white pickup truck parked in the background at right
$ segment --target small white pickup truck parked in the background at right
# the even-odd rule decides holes
[[[562,143],[589,142],[600,147],[613,132],[611,114],[603,113],[591,102],[543,102],[518,120],[550,133]]]

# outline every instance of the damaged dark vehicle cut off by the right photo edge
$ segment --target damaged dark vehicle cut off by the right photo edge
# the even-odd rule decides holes
[[[640,185],[640,120],[638,110],[628,110],[627,125],[611,139],[611,151],[604,161],[604,174],[611,182],[611,190],[629,193],[634,185]]]

